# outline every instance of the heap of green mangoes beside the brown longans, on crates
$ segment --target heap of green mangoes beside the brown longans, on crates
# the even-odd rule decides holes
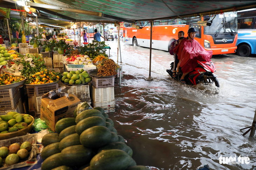
[[[76,70],[76,71],[70,71],[70,72],[63,72],[62,82],[66,84],[84,84],[89,83],[92,78],[89,77],[89,74],[87,71]]]

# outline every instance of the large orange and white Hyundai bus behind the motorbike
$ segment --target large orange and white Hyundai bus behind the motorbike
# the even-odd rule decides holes
[[[211,21],[211,26],[200,26],[199,21]],[[210,22],[209,22],[210,23]],[[124,41],[130,45],[150,47],[150,22],[141,21],[136,25],[143,27],[136,29],[132,24],[124,23]],[[170,44],[178,38],[178,32],[187,31],[194,27],[198,33],[195,39],[206,49],[212,50],[213,55],[231,54],[236,52],[237,44],[237,13],[227,12],[214,16],[191,17],[188,20],[157,20],[152,29],[152,48],[169,51]]]

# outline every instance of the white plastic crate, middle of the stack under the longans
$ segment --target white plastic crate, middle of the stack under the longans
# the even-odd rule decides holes
[[[115,100],[114,87],[92,87],[93,103],[105,103]]]

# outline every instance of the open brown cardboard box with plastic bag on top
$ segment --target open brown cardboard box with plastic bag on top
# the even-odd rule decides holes
[[[63,118],[73,117],[75,108],[80,103],[80,99],[73,94],[68,94],[68,97],[61,97],[61,94],[63,95],[65,92],[67,92],[70,87],[66,87],[63,90],[62,88],[63,87],[60,87],[54,90],[55,92],[60,91],[54,93],[55,95],[51,96],[51,91],[43,95],[41,99],[41,119],[44,120],[46,125],[48,125],[54,132],[56,122]],[[51,97],[49,98],[49,96]]]

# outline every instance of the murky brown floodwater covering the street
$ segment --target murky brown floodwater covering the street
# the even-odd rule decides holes
[[[117,41],[107,42],[117,61]],[[107,51],[108,52],[108,51]],[[256,141],[249,133],[256,109],[256,57],[215,56],[220,89],[173,80],[173,56],[121,42],[123,75],[109,117],[133,149],[137,165],[158,170],[256,169]],[[120,56],[119,56],[120,62]],[[119,63],[120,64],[120,63]],[[220,164],[222,157],[249,157],[249,164]]]

